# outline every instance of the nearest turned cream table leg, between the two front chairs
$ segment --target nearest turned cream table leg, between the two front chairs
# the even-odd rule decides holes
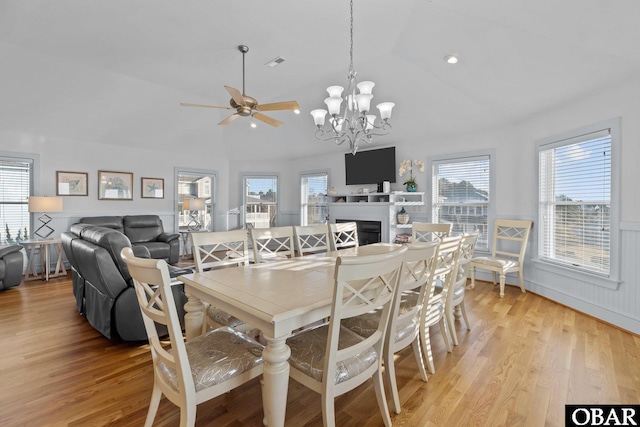
[[[282,338],[264,336],[267,346],[262,352],[264,370],[262,373],[263,423],[269,427],[284,426],[289,389],[289,356],[291,349]]]

